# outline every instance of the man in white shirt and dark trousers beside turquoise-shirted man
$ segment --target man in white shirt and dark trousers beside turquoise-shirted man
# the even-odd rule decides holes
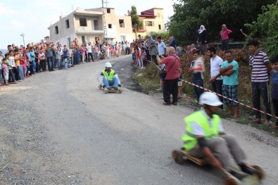
[[[210,52],[210,80],[208,81],[211,84],[211,87],[213,88],[213,91],[215,91],[217,94],[222,95],[222,84],[223,84],[223,77],[222,75],[220,77],[217,77],[217,75],[220,73],[220,68],[223,63],[222,58],[216,55],[216,49],[215,47],[210,47],[208,49],[208,52]],[[220,97],[220,101],[223,102],[223,98]],[[223,109],[223,106],[220,106],[220,108]]]

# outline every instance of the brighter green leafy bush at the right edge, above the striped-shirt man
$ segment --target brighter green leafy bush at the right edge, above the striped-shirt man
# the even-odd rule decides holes
[[[278,2],[262,7],[263,13],[258,15],[257,21],[246,24],[251,30],[249,37],[260,39],[260,44],[269,56],[278,52]]]

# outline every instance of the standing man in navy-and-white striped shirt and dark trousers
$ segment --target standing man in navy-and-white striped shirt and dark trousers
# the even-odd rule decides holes
[[[267,54],[258,49],[258,40],[252,39],[248,42],[249,51],[251,56],[249,58],[249,65],[252,66],[252,100],[253,107],[260,110],[260,96],[263,98],[263,104],[265,105],[265,112],[271,114],[270,110],[270,96],[268,94],[268,82],[270,79],[270,71],[272,70],[270,60]],[[255,122],[261,123],[260,112],[254,110]],[[265,124],[270,124],[270,116],[265,116]]]

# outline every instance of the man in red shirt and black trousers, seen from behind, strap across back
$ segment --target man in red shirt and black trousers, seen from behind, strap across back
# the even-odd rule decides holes
[[[177,82],[179,80],[179,57],[175,56],[175,48],[170,46],[168,50],[168,57],[161,56],[162,61],[157,57],[159,64],[165,64],[165,70],[167,75],[165,77],[163,85],[163,105],[165,106],[177,106]],[[170,95],[172,94],[172,103],[170,101]]]

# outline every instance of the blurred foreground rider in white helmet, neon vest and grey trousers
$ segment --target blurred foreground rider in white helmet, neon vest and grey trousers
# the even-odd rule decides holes
[[[184,118],[187,125],[182,137],[185,151],[196,158],[208,159],[213,166],[224,168],[239,180],[248,174],[258,174],[259,170],[246,165],[246,155],[235,137],[225,134],[220,117],[215,114],[222,105],[217,95],[205,92],[201,94],[199,104],[203,105],[201,110]],[[232,170],[230,154],[244,173]]]

